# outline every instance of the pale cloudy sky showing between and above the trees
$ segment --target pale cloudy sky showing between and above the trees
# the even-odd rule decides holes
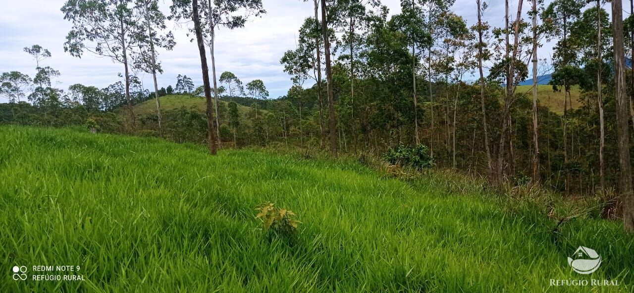
[[[629,1],[625,1],[624,7],[629,8]],[[171,0],[159,2],[167,14]],[[489,8],[484,21],[492,26],[501,26],[504,1],[487,2]],[[510,2],[510,11],[515,11],[517,1]],[[34,77],[36,62],[23,48],[39,44],[49,49],[52,55],[42,65],[53,67],[61,73],[55,80],[58,88],[67,89],[75,83],[105,88],[120,81],[117,74],[124,71],[123,65],[88,52],[82,58],[64,52],[63,43],[71,28],[71,23],[63,19],[60,11],[64,3],[64,0],[0,0],[0,7],[4,10],[0,18],[0,72],[16,70]],[[243,84],[261,79],[270,98],[277,98],[285,95],[292,85],[290,76],[283,72],[280,58],[285,51],[295,48],[299,27],[306,17],[314,15],[313,3],[301,0],[263,0],[263,3],[267,13],[261,18],[251,18],[242,29],[221,29],[217,32],[216,71],[218,78],[221,72],[233,72]],[[399,0],[382,0],[391,15],[400,12],[399,3]],[[529,8],[530,2],[525,1],[524,11]],[[607,4],[604,4],[604,8],[609,10]],[[463,16],[468,25],[477,22],[474,0],[456,0],[452,10]],[[196,42],[190,42],[191,37],[187,36],[187,29],[183,25],[169,22],[167,29],[174,33],[177,44],[172,51],[159,51],[164,70],[164,74],[158,76],[159,88],[174,86],[179,74],[191,77],[196,86],[201,85]],[[546,44],[541,50],[544,56],[549,56],[552,45]],[[208,62],[211,67],[209,58]],[[145,88],[152,88],[152,75],[143,72],[138,75],[143,79]],[[6,98],[0,97],[0,102],[6,101]]]

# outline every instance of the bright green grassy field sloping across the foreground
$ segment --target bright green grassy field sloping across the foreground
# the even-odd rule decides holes
[[[0,292],[634,289],[620,221],[579,217],[552,233],[556,219],[531,202],[451,176],[404,182],[352,160],[0,126],[0,178]],[[267,201],[299,215],[295,237],[261,230],[254,208]],[[602,256],[592,275],[567,264],[579,245]],[[79,266],[84,280],[32,280],[62,274],[37,265]],[[550,287],[590,278],[619,286]]]

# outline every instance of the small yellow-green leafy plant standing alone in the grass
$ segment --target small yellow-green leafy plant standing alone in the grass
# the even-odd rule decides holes
[[[272,229],[282,235],[293,235],[302,223],[296,218],[297,215],[293,211],[280,209],[271,202],[258,205],[256,211],[260,211],[256,219],[262,221],[262,229],[264,231]]]

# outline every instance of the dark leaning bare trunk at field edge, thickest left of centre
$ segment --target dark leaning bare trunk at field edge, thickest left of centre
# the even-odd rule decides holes
[[[209,68],[207,67],[207,55],[205,54],[205,43],[202,38],[202,28],[200,27],[200,15],[198,15],[198,0],[191,0],[193,8],[194,30],[198,43],[198,53],[200,53],[200,67],[202,69],[202,82],[205,89],[205,99],[207,100],[207,143],[209,152],[216,155],[216,133],[214,129],[214,109],[211,100],[211,87],[209,86]],[[213,55],[212,55],[213,56]]]

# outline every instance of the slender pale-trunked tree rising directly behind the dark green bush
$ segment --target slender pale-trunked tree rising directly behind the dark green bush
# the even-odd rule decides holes
[[[408,43],[411,44],[411,68],[412,68],[412,100],[414,106],[414,142],[416,145],[420,143],[418,137],[418,93],[416,88],[417,65],[420,55],[416,48],[429,48],[432,45],[432,39],[429,32],[425,32],[425,21],[422,18],[422,10],[413,0],[401,0],[401,14],[392,18],[396,29],[407,37]]]

